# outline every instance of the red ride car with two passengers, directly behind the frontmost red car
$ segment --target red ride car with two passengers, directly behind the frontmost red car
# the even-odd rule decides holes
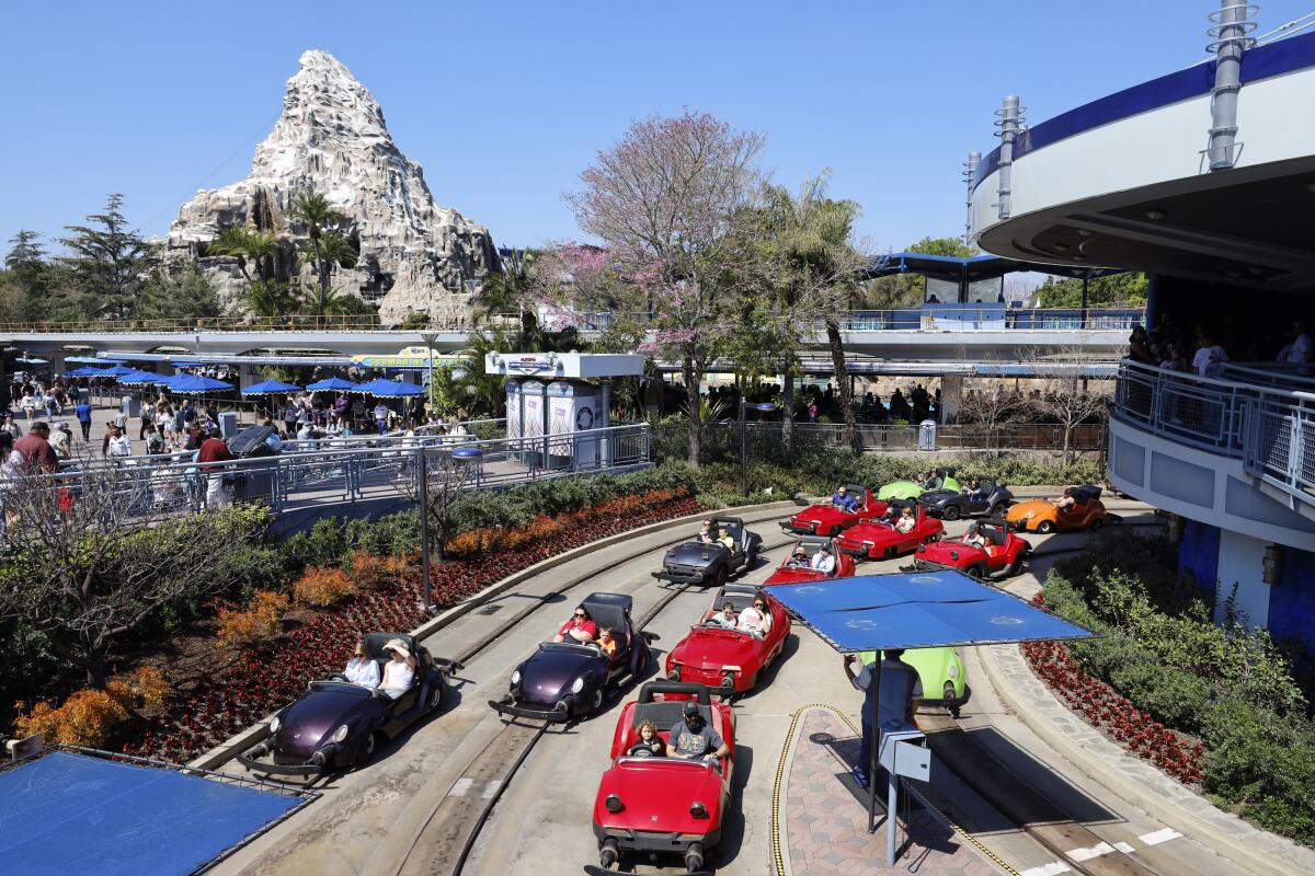
[[[761,636],[729,629],[713,620],[726,603],[739,615],[755,600],[767,602],[767,615],[772,619],[771,628]],[[790,615],[784,605],[752,584],[726,584],[717,591],[700,623],[667,654],[667,678],[697,682],[721,696],[743,693],[757,682],[757,674],[780,657],[789,634]]]

